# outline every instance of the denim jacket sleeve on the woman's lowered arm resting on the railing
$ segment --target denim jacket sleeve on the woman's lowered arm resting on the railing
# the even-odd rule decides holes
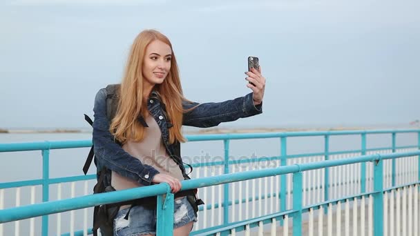
[[[95,120],[93,121],[93,146],[95,156],[100,166],[115,171],[119,175],[134,179],[142,185],[151,185],[158,170],[126,153],[120,145],[114,142],[114,136],[109,132],[110,122],[106,117],[106,90],[97,92],[93,106]]]

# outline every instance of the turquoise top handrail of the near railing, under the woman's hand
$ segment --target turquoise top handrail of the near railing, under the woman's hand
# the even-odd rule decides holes
[[[269,177],[274,175],[285,175],[289,173],[297,173],[305,170],[315,170],[318,168],[343,166],[346,164],[355,164],[366,161],[376,161],[379,159],[411,157],[420,155],[420,151],[410,153],[393,153],[384,155],[365,155],[361,157],[352,157],[340,160],[318,161],[306,164],[293,164],[290,166],[280,166],[278,168],[268,168],[265,170],[251,170],[245,173],[231,173],[225,175],[218,175],[214,177],[204,177],[200,179],[189,179],[182,181],[182,190],[189,190],[193,188],[202,188],[206,186],[213,186],[218,184],[227,184],[236,181],[243,181],[248,179],[257,179],[260,177]],[[126,201],[140,197],[150,197],[168,193],[170,190],[168,184],[158,184],[155,186],[146,186],[140,188],[131,188],[128,190],[120,190],[111,193],[99,193],[95,195],[88,195],[84,197],[75,197],[72,199],[64,199],[59,201],[49,201],[41,204],[34,204],[30,206],[21,206],[17,208],[8,208],[0,210],[0,223],[10,222],[17,219],[26,219],[30,217],[37,217],[40,215],[48,215],[53,213],[60,213],[68,210],[75,210],[86,208],[90,206],[97,206],[101,204],[109,204],[118,201]],[[134,196],[134,197],[133,197]]]

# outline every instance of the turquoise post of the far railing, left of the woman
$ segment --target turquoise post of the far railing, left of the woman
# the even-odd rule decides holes
[[[42,150],[42,201],[49,200],[50,195],[50,150]],[[41,234],[48,236],[48,215],[42,216]]]

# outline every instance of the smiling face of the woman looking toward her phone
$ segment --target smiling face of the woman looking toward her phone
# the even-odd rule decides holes
[[[171,70],[171,47],[160,41],[152,41],[146,48],[143,61],[144,82],[151,86],[163,83]]]

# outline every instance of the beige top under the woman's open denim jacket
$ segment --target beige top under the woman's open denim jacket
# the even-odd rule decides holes
[[[140,142],[127,141],[122,149],[142,161],[142,164],[153,166],[159,173],[184,180],[180,167],[166,153],[158,123],[151,115],[146,117],[145,121],[149,127],[145,127],[144,139]],[[116,190],[142,186],[137,181],[122,177],[115,172],[111,175],[111,185]]]

